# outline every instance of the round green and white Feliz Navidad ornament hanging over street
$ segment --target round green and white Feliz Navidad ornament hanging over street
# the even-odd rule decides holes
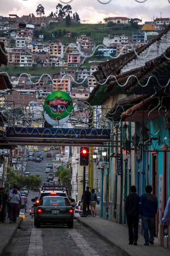
[[[53,91],[44,102],[44,118],[53,126],[62,126],[69,120],[73,100],[67,92]]]

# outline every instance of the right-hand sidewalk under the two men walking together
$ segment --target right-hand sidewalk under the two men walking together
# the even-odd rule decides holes
[[[170,255],[170,250],[156,244],[152,246],[144,246],[144,238],[140,234],[138,234],[138,246],[128,245],[128,228],[115,222],[104,220],[100,217],[79,217],[77,218],[77,221],[89,228],[109,244],[119,248],[123,256]]]

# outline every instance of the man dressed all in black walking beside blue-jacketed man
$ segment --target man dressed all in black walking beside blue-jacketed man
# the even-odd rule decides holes
[[[138,240],[138,223],[139,223],[139,199],[136,194],[136,187],[131,186],[130,194],[126,198],[125,212],[128,224],[129,243],[137,245]]]

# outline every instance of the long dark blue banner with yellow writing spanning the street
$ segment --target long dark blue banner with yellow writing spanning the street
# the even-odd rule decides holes
[[[28,142],[35,140],[43,143],[82,142],[85,144],[101,144],[110,140],[110,129],[73,129],[73,128],[34,128],[34,127],[7,127],[6,139],[8,142],[18,140]],[[65,143],[66,143],[65,142]]]

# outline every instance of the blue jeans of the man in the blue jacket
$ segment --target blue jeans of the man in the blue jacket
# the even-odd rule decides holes
[[[155,217],[142,216],[143,234],[144,234],[144,240],[146,244],[149,244],[149,242],[154,241],[154,224],[155,224]],[[149,238],[148,230],[150,232],[150,238]]]

